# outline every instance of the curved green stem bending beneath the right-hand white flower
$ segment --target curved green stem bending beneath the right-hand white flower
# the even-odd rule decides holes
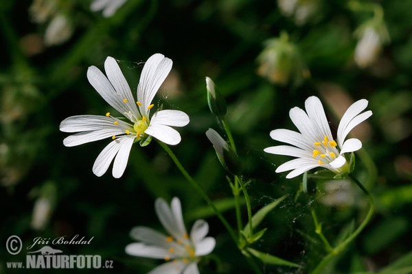
[[[345,247],[347,247],[347,245],[349,245],[350,242],[354,240],[354,238],[356,238],[359,234],[361,234],[361,232],[363,231],[367,223],[369,223],[371,216],[374,214],[374,210],[375,210],[374,198],[370,195],[369,191],[367,191],[367,189],[363,186],[363,184],[361,184],[361,182],[359,182],[359,180],[356,179],[356,177],[354,177],[354,175],[350,174],[349,177],[359,186],[359,188],[361,188],[361,190],[365,193],[365,195],[367,195],[367,198],[369,199],[369,203],[370,203],[369,211],[367,212],[367,215],[365,219],[363,220],[363,222],[361,223],[361,225],[359,225],[359,227],[354,231],[354,233],[352,233],[349,237],[347,237],[346,240],[341,242],[337,247],[332,249],[332,251],[330,251],[330,253],[328,253],[327,256],[323,257],[323,259],[317,265],[314,271],[312,271],[312,274],[321,273],[323,267],[325,267],[325,265],[328,264],[328,262],[332,260],[334,256],[341,253],[341,251],[343,251]]]

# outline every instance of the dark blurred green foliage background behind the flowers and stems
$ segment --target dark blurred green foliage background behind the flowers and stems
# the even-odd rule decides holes
[[[55,8],[42,21],[38,17],[44,10],[33,8],[34,2],[54,2]],[[286,179],[286,173],[275,173],[288,158],[263,152],[279,145],[269,132],[295,130],[288,110],[304,108],[311,95],[323,101],[332,132],[353,101],[369,100],[374,115],[353,132],[363,141],[355,175],[376,198],[376,214],[325,273],[390,267],[398,272],[385,273],[412,273],[412,1],[128,0],[107,18],[92,12],[90,4],[3,0],[0,5],[0,273],[28,272],[6,268],[5,262],[25,260],[25,252],[11,256],[4,248],[9,236],[18,235],[28,245],[36,237],[76,234],[94,238],[90,245],[58,248],[65,254],[98,254],[114,261],[114,269],[81,272],[147,273],[161,260],[126,255],[124,247],[133,242],[128,234],[136,225],[161,230],[154,201],[174,196],[181,199],[187,228],[203,218],[209,236],[216,238],[214,256],[199,264],[201,273],[251,273],[223,225],[156,142],[133,146],[120,179],[113,179],[111,169],[102,177],[91,171],[111,140],[62,145],[68,134],[59,131],[60,121],[112,111],[89,84],[87,68],[103,69],[108,55],[116,58],[135,94],[142,62],[153,53],[174,62],[155,103],[183,110],[191,119],[178,129],[182,141],[172,150],[209,197],[231,203],[225,171],[205,136],[209,127],[224,136],[207,107],[206,76],[227,100],[227,121],[243,176],[251,179],[253,211],[288,194],[262,223],[268,231],[255,246],[302,268],[262,264],[263,273],[308,273],[325,254],[310,208],[317,209],[323,232],[331,239],[345,234],[351,223],[357,226],[367,210],[367,199],[352,183],[321,182],[307,194],[300,190],[301,176]],[[293,5],[291,10],[288,5]],[[64,16],[65,25],[47,40],[47,29],[57,16]],[[354,59],[361,40],[356,29],[376,17],[385,22],[390,40],[380,33],[381,50],[362,65]],[[282,33],[286,46],[265,48],[265,41]],[[283,57],[266,59],[264,50]],[[261,76],[265,71],[268,77]],[[47,201],[49,212],[36,217],[40,201]],[[225,216],[234,227],[233,208],[227,208]]]

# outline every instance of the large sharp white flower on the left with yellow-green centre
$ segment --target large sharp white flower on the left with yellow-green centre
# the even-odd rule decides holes
[[[152,99],[172,69],[172,60],[157,53],[152,55],[143,70],[137,86],[137,101],[124,78],[116,60],[108,57],[104,62],[107,77],[95,66],[90,66],[87,78],[106,102],[129,121],[110,115],[71,116],[60,123],[62,132],[78,132],[63,140],[66,147],[82,145],[86,142],[113,139],[98,155],[93,165],[93,173],[102,176],[114,159],[113,177],[123,175],[128,155],[134,142],[144,146],[152,137],[168,145],[177,145],[181,141],[179,132],[174,127],[183,127],[189,123],[189,116],[179,110],[159,110],[150,117],[154,106]]]

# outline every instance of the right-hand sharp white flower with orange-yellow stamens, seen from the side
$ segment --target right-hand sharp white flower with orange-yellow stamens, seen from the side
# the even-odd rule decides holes
[[[333,140],[319,98],[312,96],[306,99],[306,112],[301,108],[292,108],[289,116],[300,133],[288,129],[275,129],[271,132],[273,140],[286,142],[292,146],[279,145],[264,149],[267,153],[297,157],[281,164],[276,172],[293,170],[286,175],[286,178],[296,177],[318,166],[334,173],[348,172],[350,166],[344,154],[361,149],[362,142],[356,138],[348,140],[345,138],[356,125],[372,115],[370,110],[363,112],[367,103],[367,100],[361,99],[346,110],[339,123],[336,141]]]

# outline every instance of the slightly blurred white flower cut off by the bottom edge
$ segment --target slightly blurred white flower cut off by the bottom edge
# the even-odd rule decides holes
[[[209,225],[204,220],[198,220],[188,235],[183,223],[181,202],[176,197],[172,199],[170,207],[163,199],[157,199],[155,210],[169,236],[149,227],[135,227],[130,236],[139,242],[127,245],[126,253],[166,261],[149,274],[199,273],[199,256],[209,254],[216,245],[214,238],[205,237],[209,232]]]

